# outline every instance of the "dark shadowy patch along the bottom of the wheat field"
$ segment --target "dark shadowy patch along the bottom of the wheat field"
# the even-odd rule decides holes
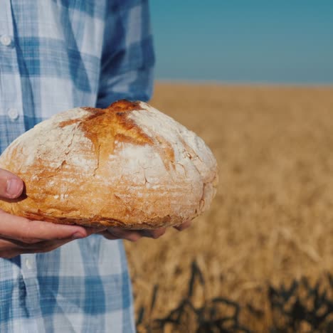
[[[196,305],[194,294],[201,288],[201,305]],[[155,285],[150,307],[140,307],[137,318],[139,333],[189,332],[189,333],[250,333],[254,332],[240,321],[243,311],[260,321],[264,310],[251,304],[241,306],[223,297],[206,300],[205,280],[199,266],[191,265],[189,290],[179,305],[164,318],[152,318],[151,313],[159,294]],[[266,288],[273,324],[270,333],[287,332],[333,332],[333,276],[329,273],[314,285],[306,277],[294,280],[290,286]],[[196,300],[197,301],[197,300]],[[267,316],[267,314],[266,314]]]

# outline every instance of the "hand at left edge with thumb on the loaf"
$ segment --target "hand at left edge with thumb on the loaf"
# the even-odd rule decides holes
[[[0,200],[18,198],[22,191],[23,181],[11,172],[0,169]],[[101,230],[96,228],[31,221],[0,209],[0,258],[14,258],[22,253],[48,252],[71,240],[85,238],[99,231]]]

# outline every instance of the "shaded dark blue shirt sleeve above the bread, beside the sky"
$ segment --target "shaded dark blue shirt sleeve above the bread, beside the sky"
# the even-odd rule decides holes
[[[148,1],[108,1],[97,107],[149,100],[154,61]]]

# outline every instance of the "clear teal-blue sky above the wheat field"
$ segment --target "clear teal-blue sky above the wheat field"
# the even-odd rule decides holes
[[[333,0],[151,0],[156,78],[333,83]]]

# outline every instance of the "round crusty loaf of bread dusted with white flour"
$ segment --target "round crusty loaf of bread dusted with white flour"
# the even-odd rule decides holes
[[[78,107],[41,122],[0,157],[23,179],[7,213],[54,223],[176,226],[205,211],[217,165],[201,138],[144,102]]]

